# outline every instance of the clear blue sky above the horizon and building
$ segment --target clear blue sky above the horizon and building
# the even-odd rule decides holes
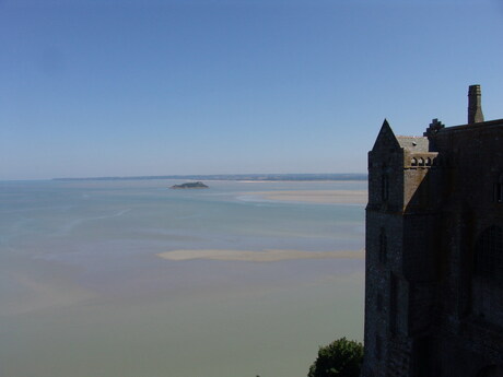
[[[361,173],[503,118],[500,0],[0,0],[0,179]]]

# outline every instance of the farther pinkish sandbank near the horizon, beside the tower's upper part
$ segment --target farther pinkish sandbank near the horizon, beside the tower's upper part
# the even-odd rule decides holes
[[[308,203],[365,204],[366,190],[299,190],[246,192],[267,200],[301,201]]]

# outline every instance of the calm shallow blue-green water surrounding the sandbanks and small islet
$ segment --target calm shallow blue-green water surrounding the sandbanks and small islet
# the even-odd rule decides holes
[[[363,260],[186,260],[177,249],[361,250],[364,208],[264,200],[366,182],[0,184],[0,376],[295,377],[362,339]]]

